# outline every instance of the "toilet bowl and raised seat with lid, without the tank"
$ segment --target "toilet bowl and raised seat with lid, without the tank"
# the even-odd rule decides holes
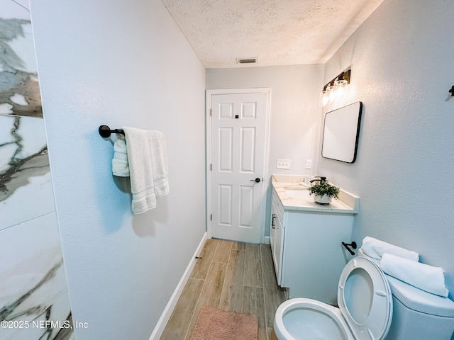
[[[302,297],[282,302],[275,313],[275,334],[279,340],[382,340],[387,335],[392,294],[384,273],[370,259],[358,256],[345,265],[338,305]]]

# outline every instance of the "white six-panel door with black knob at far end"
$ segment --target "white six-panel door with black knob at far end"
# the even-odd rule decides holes
[[[260,243],[267,93],[211,95],[211,237]]]

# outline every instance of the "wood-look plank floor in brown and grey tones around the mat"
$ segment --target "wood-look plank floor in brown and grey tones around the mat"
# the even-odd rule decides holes
[[[255,314],[258,340],[277,339],[272,325],[286,292],[277,285],[270,245],[207,239],[199,256],[160,339],[189,339],[203,305]]]

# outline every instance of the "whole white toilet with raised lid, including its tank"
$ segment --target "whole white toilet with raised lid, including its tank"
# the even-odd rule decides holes
[[[338,308],[306,298],[277,308],[277,339],[451,339],[453,301],[386,276],[375,261],[360,255],[341,273]]]

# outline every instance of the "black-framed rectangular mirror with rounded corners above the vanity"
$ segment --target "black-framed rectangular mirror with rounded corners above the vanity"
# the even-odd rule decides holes
[[[353,163],[360,135],[362,103],[330,111],[325,115],[321,157]]]

